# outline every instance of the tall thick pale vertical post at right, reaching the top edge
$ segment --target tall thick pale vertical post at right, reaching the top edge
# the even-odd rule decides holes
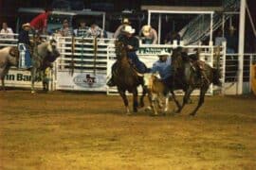
[[[244,45],[245,45],[245,24],[246,24],[246,0],[240,1],[239,18],[239,42],[238,42],[238,87],[237,93],[243,93],[243,73],[244,73]]]

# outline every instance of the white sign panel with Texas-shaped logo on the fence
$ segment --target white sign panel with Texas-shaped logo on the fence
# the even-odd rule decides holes
[[[57,90],[106,91],[106,74],[100,73],[57,73]]]

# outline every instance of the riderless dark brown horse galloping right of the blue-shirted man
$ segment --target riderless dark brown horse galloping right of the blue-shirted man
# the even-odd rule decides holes
[[[192,110],[191,115],[195,115],[196,111],[203,105],[205,94],[207,93],[210,84],[221,86],[219,80],[219,70],[210,67],[209,64],[204,64],[203,70],[194,64],[187,53],[182,52],[182,48],[174,49],[172,55],[173,67],[173,86],[171,93],[174,97],[174,102],[178,108],[176,112],[180,112],[185,104],[188,103],[191,93],[194,89],[199,89],[200,95],[196,108]],[[182,89],[185,92],[182,105],[175,98],[174,90]]]

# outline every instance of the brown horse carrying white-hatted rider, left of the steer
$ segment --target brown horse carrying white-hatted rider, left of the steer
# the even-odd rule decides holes
[[[130,114],[129,103],[125,92],[133,93],[133,110],[137,112],[137,86],[143,87],[143,76],[138,76],[136,69],[131,64],[126,51],[126,46],[122,42],[115,42],[117,62],[112,67],[113,81],[118,87],[120,96],[126,108],[126,113]],[[140,97],[140,106],[143,107],[143,97],[146,90],[143,87],[143,93]]]

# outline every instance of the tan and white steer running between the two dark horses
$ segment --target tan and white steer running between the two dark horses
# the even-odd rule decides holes
[[[168,87],[158,78],[159,74],[144,74],[144,86],[147,88],[150,107],[157,115],[157,109],[163,107],[163,98],[165,98],[164,112],[168,111]]]

